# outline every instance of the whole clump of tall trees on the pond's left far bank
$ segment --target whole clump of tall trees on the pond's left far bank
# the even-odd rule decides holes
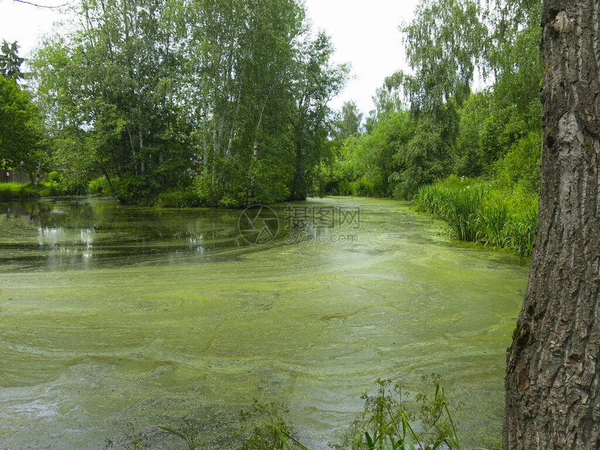
[[[34,66],[57,161],[125,203],[304,198],[347,70],[295,0],[85,0]],[[67,164],[68,163],[68,164]]]

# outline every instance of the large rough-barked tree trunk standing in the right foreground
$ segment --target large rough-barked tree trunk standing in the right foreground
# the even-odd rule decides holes
[[[600,3],[546,0],[537,238],[504,449],[600,449]]]

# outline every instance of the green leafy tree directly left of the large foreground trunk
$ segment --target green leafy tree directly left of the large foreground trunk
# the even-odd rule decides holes
[[[484,172],[503,186],[537,192],[541,148],[541,2],[509,0],[497,8],[488,59],[496,82],[480,145]],[[511,153],[509,155],[509,153]],[[497,160],[505,163],[496,164]],[[517,170],[517,167],[526,170]],[[511,183],[508,181],[511,180]]]

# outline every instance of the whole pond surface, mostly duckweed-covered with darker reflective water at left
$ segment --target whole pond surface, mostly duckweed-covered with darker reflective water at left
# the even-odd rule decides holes
[[[433,372],[467,444],[495,444],[527,260],[398,202],[300,206],[360,207],[360,223],[286,243],[281,205],[277,239],[250,245],[240,211],[0,205],[0,448],[98,449],[186,415],[227,448],[254,399],[324,448],[378,377],[421,389]]]

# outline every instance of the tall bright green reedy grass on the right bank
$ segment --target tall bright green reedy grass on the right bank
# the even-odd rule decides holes
[[[444,220],[460,241],[532,252],[537,195],[498,190],[474,179],[450,177],[423,186],[414,197],[417,211]]]

